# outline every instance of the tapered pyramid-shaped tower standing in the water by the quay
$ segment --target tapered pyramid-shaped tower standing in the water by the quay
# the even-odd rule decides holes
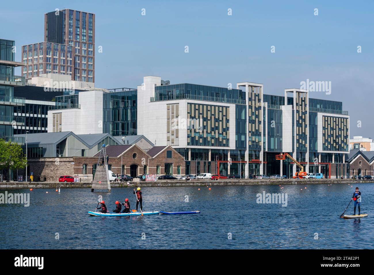
[[[92,180],[91,192],[94,189],[108,189],[110,192],[110,181],[107,163],[107,151],[105,150],[105,144],[101,146],[99,159],[96,165],[95,175]]]

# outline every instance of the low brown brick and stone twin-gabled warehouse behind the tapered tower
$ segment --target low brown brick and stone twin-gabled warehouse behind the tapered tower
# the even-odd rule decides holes
[[[182,155],[171,146],[154,146],[147,152],[138,145],[108,145],[108,168],[115,174],[185,174]],[[79,175],[81,181],[92,181],[99,153],[94,157],[31,158],[28,170],[33,172],[35,181],[57,181],[62,175]],[[19,170],[19,173],[24,171]]]

